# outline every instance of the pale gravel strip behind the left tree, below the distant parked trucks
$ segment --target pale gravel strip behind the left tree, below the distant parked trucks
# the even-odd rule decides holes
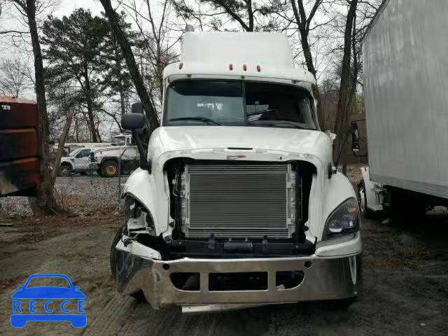
[[[127,177],[121,177],[120,183]],[[70,176],[56,179],[56,195],[62,206],[73,214],[94,214],[118,208],[119,178],[106,179],[97,175]],[[0,198],[0,218],[32,216],[27,197]]]

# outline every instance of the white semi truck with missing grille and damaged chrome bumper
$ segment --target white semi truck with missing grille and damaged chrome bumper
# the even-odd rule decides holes
[[[111,246],[121,293],[183,311],[359,295],[358,202],[291,55],[282,34],[188,32],[147,153],[142,105],[123,116],[141,168]]]

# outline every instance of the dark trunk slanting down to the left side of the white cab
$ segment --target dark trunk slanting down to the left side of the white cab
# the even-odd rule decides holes
[[[127,39],[127,36],[125,35],[125,32],[120,26],[120,20],[118,19],[118,15],[111,5],[111,0],[100,0],[100,1],[104,7],[106,17],[111,23],[113,34],[116,36],[116,39],[120,44],[121,50],[123,51],[123,55],[125,56],[127,68],[130,71],[132,82],[134,83],[135,89],[137,90],[137,94],[139,94],[139,98],[141,102],[144,104],[146,118],[148,118],[149,121],[149,127],[150,127],[149,132],[151,133],[153,132],[153,130],[159,127],[157,112],[155,111],[154,106],[151,103],[151,97],[148,94],[148,90],[146,90],[144,80],[139,72],[139,67],[135,62],[134,53],[132,52],[131,45]]]

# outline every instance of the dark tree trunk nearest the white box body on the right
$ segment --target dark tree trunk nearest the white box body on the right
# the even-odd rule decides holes
[[[349,123],[349,106],[350,101],[350,64],[351,64],[351,38],[353,29],[353,19],[356,15],[356,6],[358,0],[351,0],[349,6],[349,13],[347,13],[347,20],[344,31],[344,55],[342,57],[342,74],[341,82],[339,85],[339,100],[337,102],[337,113],[335,121],[335,133],[337,134],[336,146],[334,153],[335,162],[339,160],[342,151],[344,150],[344,144],[346,142],[346,134],[344,134],[344,125]]]

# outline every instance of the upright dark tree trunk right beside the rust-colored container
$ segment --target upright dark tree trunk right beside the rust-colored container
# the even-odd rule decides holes
[[[45,98],[45,80],[43,72],[41,45],[38,40],[38,29],[36,24],[36,3],[35,0],[27,0],[24,8],[27,13],[29,33],[31,34],[31,44],[34,54],[34,76],[36,78],[36,100],[39,115],[39,137],[41,144],[41,172],[43,173],[42,190],[36,199],[30,200],[30,206],[34,215],[51,214],[59,207],[53,194],[54,183],[51,179],[51,170],[49,165],[49,126],[47,102]]]

